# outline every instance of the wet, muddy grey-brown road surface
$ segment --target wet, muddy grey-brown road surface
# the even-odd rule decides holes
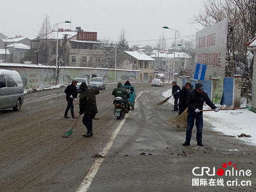
[[[170,84],[171,85],[171,84]],[[167,85],[168,86],[168,85]],[[162,92],[171,88],[135,84],[135,110],[126,118],[106,157],[102,149],[118,127],[114,117],[112,90],[107,85],[96,96],[98,111],[93,121],[94,136],[84,138],[86,128],[78,120],[74,133],[61,136],[74,125],[75,119],[64,119],[67,106],[65,88],[25,95],[20,112],[0,110],[0,191],[1,192],[75,192],[95,159],[104,158],[88,192],[167,192],[167,191],[256,191],[255,146],[210,129],[204,121],[203,147],[196,146],[195,128],[191,146],[182,146],[185,130],[169,122],[177,115],[173,106],[162,101]],[[74,102],[78,116],[79,106]],[[70,115],[70,112],[68,114]],[[145,154],[144,154],[145,153]],[[98,155],[97,155],[98,154]],[[231,162],[238,170],[250,170],[250,176],[195,176],[201,167],[209,173]],[[226,169],[231,170],[228,165]],[[232,173],[232,172],[231,172]],[[223,179],[224,186],[192,186],[192,179]],[[227,185],[227,181],[236,181]],[[250,181],[250,186],[240,185]],[[231,182],[232,183],[232,182]],[[239,185],[239,186],[238,186]]]

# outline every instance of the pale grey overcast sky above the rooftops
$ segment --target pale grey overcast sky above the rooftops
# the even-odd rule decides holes
[[[7,36],[37,36],[40,26],[49,15],[50,23],[70,20],[71,29],[81,26],[84,31],[97,32],[97,39],[117,41],[123,27],[129,44],[156,45],[165,38],[195,34],[202,29],[188,22],[202,9],[203,0],[5,0],[1,1],[0,33]],[[59,24],[70,28],[70,24]],[[144,40],[144,41],[142,41]],[[155,40],[155,41],[149,41]],[[137,41],[137,42],[136,42]],[[168,46],[173,40],[168,40]]]

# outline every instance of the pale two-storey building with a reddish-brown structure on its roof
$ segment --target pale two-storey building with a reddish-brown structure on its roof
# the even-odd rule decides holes
[[[48,41],[52,43],[47,54],[53,58],[56,58],[56,39],[57,31],[49,33]],[[38,41],[42,39],[35,40]],[[103,43],[97,41],[96,32],[59,30],[58,45],[59,60],[61,57],[63,60],[61,66],[103,67]]]

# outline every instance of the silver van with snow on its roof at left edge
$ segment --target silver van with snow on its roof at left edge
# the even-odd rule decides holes
[[[19,111],[24,101],[24,89],[20,74],[0,69],[0,109],[13,108]]]

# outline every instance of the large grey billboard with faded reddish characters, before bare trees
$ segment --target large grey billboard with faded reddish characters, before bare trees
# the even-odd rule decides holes
[[[195,63],[207,65],[206,80],[225,76],[227,37],[227,19],[196,33]]]

